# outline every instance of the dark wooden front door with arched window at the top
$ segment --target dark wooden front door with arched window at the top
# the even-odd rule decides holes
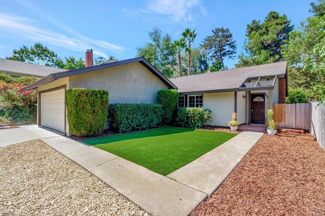
[[[265,94],[251,95],[250,123],[265,124]]]

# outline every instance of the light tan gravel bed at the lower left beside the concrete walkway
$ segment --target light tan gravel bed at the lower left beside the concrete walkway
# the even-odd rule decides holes
[[[0,148],[0,215],[148,215],[41,140]]]

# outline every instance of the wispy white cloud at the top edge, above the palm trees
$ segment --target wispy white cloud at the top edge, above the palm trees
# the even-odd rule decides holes
[[[153,0],[148,1],[145,8],[139,10],[147,15],[169,16],[174,22],[193,21],[193,15],[198,15],[198,11],[205,15],[201,0]]]

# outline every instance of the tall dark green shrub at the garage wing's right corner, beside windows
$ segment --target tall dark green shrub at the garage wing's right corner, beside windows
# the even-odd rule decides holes
[[[165,115],[164,121],[166,123],[171,121],[173,113],[176,110],[179,93],[175,89],[163,89],[157,91],[158,103],[163,106]]]

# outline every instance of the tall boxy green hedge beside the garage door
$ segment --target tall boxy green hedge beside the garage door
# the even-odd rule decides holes
[[[69,131],[72,135],[100,134],[108,116],[108,91],[75,88],[66,93]]]

